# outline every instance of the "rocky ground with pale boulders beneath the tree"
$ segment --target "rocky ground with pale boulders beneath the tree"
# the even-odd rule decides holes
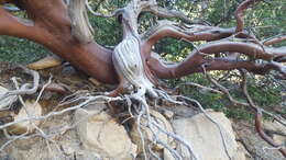
[[[0,112],[0,127],[13,121],[43,116],[72,106],[57,104],[67,95],[77,91],[105,92],[113,87],[103,85],[80,73],[68,65],[40,71],[41,87],[45,85],[51,75],[54,91],[44,91],[38,95],[23,96],[21,103],[11,110]],[[19,83],[32,82],[31,76],[10,64],[0,64],[0,95],[13,90],[12,77]],[[64,91],[62,90],[64,89]],[[35,105],[36,104],[36,105]],[[117,104],[119,105],[119,104]],[[252,122],[229,119],[223,113],[207,111],[185,105],[160,103],[151,105],[151,115],[156,117],[165,130],[176,133],[187,140],[201,160],[282,160],[277,149],[263,141]],[[25,111],[23,110],[25,108]],[[208,118],[211,117],[211,119]],[[119,118],[120,117],[120,118]],[[0,134],[0,159],[6,160],[133,160],[143,159],[142,140],[132,117],[122,118],[117,108],[103,101],[97,101],[84,108],[73,110],[50,116],[33,123],[18,123],[2,129]],[[220,129],[219,129],[220,128]],[[264,129],[276,141],[286,145],[286,128],[276,122],[264,122]],[[151,130],[141,126],[144,141],[152,144]],[[186,148],[173,138],[158,133],[160,139],[179,151],[184,159],[191,159]],[[224,142],[223,142],[224,141]],[[153,145],[151,150],[164,160],[173,160],[172,153],[161,145]]]

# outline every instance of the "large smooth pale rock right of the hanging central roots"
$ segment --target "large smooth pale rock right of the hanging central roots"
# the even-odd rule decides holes
[[[223,113],[207,113],[221,126],[223,137],[227,141],[227,150],[231,158],[234,159],[238,144],[231,122]],[[176,133],[190,144],[200,160],[229,160],[218,127],[204,114],[195,115],[191,118],[176,119],[173,126]],[[182,145],[179,145],[178,150],[183,152],[185,159],[191,159],[187,149]]]

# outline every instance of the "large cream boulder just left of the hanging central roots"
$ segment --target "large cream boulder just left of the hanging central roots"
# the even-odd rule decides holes
[[[124,127],[108,113],[99,110],[77,110],[76,122],[79,139],[84,148],[102,158],[132,160],[136,156],[136,146],[132,144]]]

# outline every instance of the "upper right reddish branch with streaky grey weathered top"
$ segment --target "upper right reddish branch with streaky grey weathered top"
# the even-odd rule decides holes
[[[188,42],[216,41],[229,37],[234,28],[221,28],[206,25],[186,25],[170,21],[158,21],[158,24],[147,30],[143,35],[142,48],[144,55],[151,54],[152,46],[164,37],[174,37]]]

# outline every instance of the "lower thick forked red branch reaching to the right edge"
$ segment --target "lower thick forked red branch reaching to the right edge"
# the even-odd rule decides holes
[[[265,52],[264,52],[265,49]],[[155,76],[158,78],[178,78],[194,72],[202,72],[200,66],[206,64],[207,70],[232,70],[245,68],[246,70],[264,75],[270,70],[278,70],[284,76],[286,73],[285,66],[276,61],[271,61],[257,65],[254,61],[238,61],[230,59],[206,59],[206,55],[216,53],[234,52],[241,53],[255,59],[272,60],[279,56],[285,56],[285,50],[277,48],[264,47],[264,49],[250,43],[241,42],[216,42],[212,44],[202,45],[200,48],[194,50],[184,61],[176,65],[164,65],[156,58],[148,58],[147,65]],[[204,53],[204,54],[202,54]]]

